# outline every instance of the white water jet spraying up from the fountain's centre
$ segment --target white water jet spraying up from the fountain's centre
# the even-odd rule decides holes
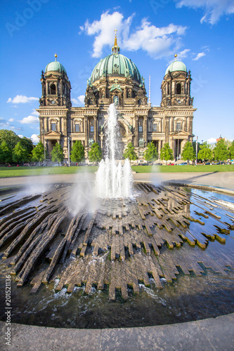
[[[117,161],[119,154],[119,126],[117,123],[117,110],[115,104],[108,109],[108,125],[105,131],[105,161],[102,159],[96,173],[97,197],[131,197],[133,176],[129,159]]]

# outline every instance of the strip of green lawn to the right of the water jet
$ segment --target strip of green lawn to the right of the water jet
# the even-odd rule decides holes
[[[217,164],[207,166],[131,166],[136,173],[184,173],[184,172],[234,172],[234,164]]]

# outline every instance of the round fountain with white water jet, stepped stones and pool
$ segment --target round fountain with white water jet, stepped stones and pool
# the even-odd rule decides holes
[[[0,289],[11,274],[12,322],[105,328],[233,312],[233,197],[133,184],[129,161],[116,161],[115,105],[107,124],[105,161],[82,194],[71,184],[0,190]],[[5,320],[4,304],[0,312]]]

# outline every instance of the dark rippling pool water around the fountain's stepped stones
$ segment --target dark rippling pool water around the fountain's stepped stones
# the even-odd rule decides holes
[[[193,193],[194,190],[191,190]],[[197,191],[196,191],[197,192]],[[200,192],[207,196],[207,192]],[[210,193],[211,194],[211,193]],[[212,196],[212,194],[210,195]],[[222,201],[233,202],[233,197],[215,194]],[[191,206],[192,207],[192,206]],[[225,210],[223,210],[223,213]],[[233,215],[234,216],[234,215]],[[205,219],[204,219],[205,220]],[[234,231],[226,236],[226,243],[209,241],[206,253],[213,258],[226,256],[234,249]],[[183,247],[198,252],[202,249],[184,242]],[[171,250],[178,254],[180,248]],[[197,251],[194,251],[197,250]],[[0,257],[3,252],[0,252]],[[234,312],[234,270],[226,267],[226,276],[205,269],[200,277],[193,272],[177,275],[168,283],[161,278],[163,289],[156,289],[153,279],[150,287],[140,284],[140,293],[129,289],[128,300],[123,300],[117,292],[117,300],[108,299],[108,286],[104,291],[92,289],[91,295],[84,293],[84,286],[76,287],[70,294],[63,288],[56,293],[56,284],[42,285],[35,294],[30,294],[32,286],[28,283],[22,288],[11,281],[11,322],[38,326],[65,328],[114,328],[130,326],[151,326],[188,322],[207,317]],[[4,291],[6,274],[9,273],[4,261],[0,264],[1,320],[6,320]]]

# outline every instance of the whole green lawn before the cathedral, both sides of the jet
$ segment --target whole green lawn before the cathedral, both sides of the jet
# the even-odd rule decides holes
[[[183,173],[183,172],[228,172],[234,171],[234,164],[214,166],[131,166],[136,173]],[[70,167],[0,167],[0,178],[43,176],[47,174],[72,174],[77,172],[94,173],[98,166],[70,166]]]

